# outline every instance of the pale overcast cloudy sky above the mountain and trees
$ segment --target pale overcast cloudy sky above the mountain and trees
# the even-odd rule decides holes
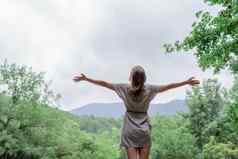
[[[113,83],[126,83],[130,69],[141,65],[148,83],[168,84],[195,76],[217,78],[229,88],[228,71],[203,72],[191,53],[165,54],[163,44],[191,31],[195,12],[219,8],[202,0],[1,0],[0,62],[32,66],[46,72],[52,89],[62,95],[60,108],[120,102],[116,94],[86,82],[79,73]],[[153,103],[185,99],[189,86],[158,94]]]

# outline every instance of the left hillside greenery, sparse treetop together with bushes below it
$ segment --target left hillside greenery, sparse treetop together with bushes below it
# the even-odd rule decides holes
[[[91,159],[105,152],[76,117],[49,105],[53,92],[41,74],[6,61],[0,73],[7,85],[0,94],[0,158]]]

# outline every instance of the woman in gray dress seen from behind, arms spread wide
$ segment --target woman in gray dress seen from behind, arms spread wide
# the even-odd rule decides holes
[[[113,90],[123,100],[126,112],[121,132],[120,146],[126,148],[128,159],[149,159],[151,147],[151,125],[147,114],[149,104],[160,92],[184,85],[199,84],[194,77],[179,83],[168,85],[145,84],[146,74],[141,66],[135,66],[130,72],[130,83],[109,83],[94,80],[84,74],[75,76],[74,81],[87,81]]]

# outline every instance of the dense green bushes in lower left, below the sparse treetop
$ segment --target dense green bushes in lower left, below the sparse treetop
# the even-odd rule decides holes
[[[70,114],[25,102],[15,107],[13,114],[15,118],[0,129],[0,156],[17,159],[95,157],[97,149],[93,138],[80,131],[79,121]]]

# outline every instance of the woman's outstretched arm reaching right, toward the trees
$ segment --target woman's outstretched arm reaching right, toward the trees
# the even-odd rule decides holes
[[[167,85],[160,85],[159,92],[164,92],[164,91],[174,89],[174,88],[177,88],[177,87],[181,87],[181,86],[184,86],[184,85],[194,86],[194,85],[197,85],[199,83],[200,83],[199,80],[196,80],[194,77],[191,77],[186,81],[182,81],[182,82],[178,82],[178,83],[170,83],[170,84],[167,84]]]

